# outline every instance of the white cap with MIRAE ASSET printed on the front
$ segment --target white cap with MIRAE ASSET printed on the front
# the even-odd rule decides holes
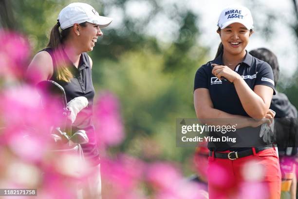
[[[231,5],[224,8],[218,19],[217,26],[223,29],[232,23],[241,23],[248,30],[254,27],[250,11],[241,5]]]

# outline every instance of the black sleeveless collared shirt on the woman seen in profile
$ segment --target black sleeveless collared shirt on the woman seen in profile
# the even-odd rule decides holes
[[[88,99],[88,107],[81,110],[72,126],[72,132],[75,133],[77,130],[85,130],[89,143],[81,144],[84,156],[87,159],[91,159],[94,164],[99,163],[99,153],[96,144],[96,136],[92,121],[93,115],[93,98],[94,98],[94,87],[92,82],[92,71],[89,56],[87,53],[82,53],[80,56],[78,67],[76,68],[74,64],[68,59],[67,55],[64,53],[65,58],[69,62],[69,69],[73,74],[73,78],[70,82],[63,80],[57,80],[57,70],[56,62],[53,55],[53,50],[51,48],[45,48],[42,51],[48,52],[53,60],[54,74],[50,80],[56,81],[60,84],[66,93],[66,100],[69,102],[76,97],[84,96]]]

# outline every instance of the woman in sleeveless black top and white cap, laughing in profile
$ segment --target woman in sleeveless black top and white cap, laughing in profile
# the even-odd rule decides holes
[[[97,38],[103,35],[100,28],[108,26],[111,22],[112,18],[100,16],[87,3],[69,4],[59,13],[47,48],[37,53],[27,71],[27,77],[34,83],[42,80],[54,80],[59,83],[65,90],[67,101],[79,96],[88,99],[89,106],[79,112],[72,129],[73,132],[79,129],[86,131],[89,143],[82,144],[84,157],[98,167],[98,175],[94,175],[95,179],[91,183],[93,198],[100,198],[101,181],[92,123],[93,62],[86,52],[92,51]]]

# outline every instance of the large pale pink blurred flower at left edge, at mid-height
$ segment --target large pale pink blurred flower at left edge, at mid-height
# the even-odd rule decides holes
[[[12,135],[16,128],[27,126],[34,130],[31,133],[50,136],[51,126],[58,125],[63,120],[62,112],[57,114],[56,103],[52,102],[50,107],[42,108],[39,94],[30,86],[5,90],[0,99],[0,117],[6,127],[4,131],[9,129],[10,132],[7,133]]]

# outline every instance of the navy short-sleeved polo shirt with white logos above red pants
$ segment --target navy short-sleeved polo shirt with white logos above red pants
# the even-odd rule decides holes
[[[197,70],[194,80],[194,90],[196,90],[197,88],[208,89],[211,101],[215,109],[233,115],[249,117],[242,107],[234,84],[229,81],[219,80],[211,73],[213,69],[213,67],[211,66],[212,63],[223,65],[223,54],[217,57],[215,60],[207,62]],[[274,90],[275,94],[273,72],[268,63],[251,56],[246,51],[244,60],[235,67],[235,71],[239,75],[241,75],[241,77],[252,90],[256,85],[266,85],[271,87]],[[254,133],[251,132],[252,129]],[[237,142],[246,141],[247,146],[266,145],[259,137],[260,129],[261,126],[257,128],[245,127],[242,129],[237,129],[235,133],[230,135],[237,137],[237,134],[240,134],[242,132],[242,139],[238,139]],[[243,138],[244,131],[246,132],[246,134],[248,134],[247,139],[245,139],[245,136]],[[210,136],[212,135],[214,134],[210,132]],[[213,144],[215,146],[213,146]],[[215,151],[225,151],[231,149],[239,151],[244,149],[238,147],[237,149],[231,148],[230,145],[231,144],[225,145],[222,142],[220,144],[209,142],[208,148]]]

